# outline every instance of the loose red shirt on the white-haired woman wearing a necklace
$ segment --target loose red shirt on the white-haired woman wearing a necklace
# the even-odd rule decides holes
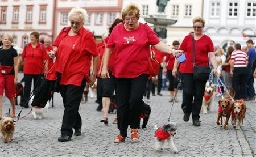
[[[46,78],[55,80],[58,70],[62,73],[60,84],[81,86],[84,77],[89,82],[91,58],[98,56],[98,50],[92,33],[82,27],[77,35],[69,36],[70,29],[61,30],[53,43],[58,48],[56,61]]]

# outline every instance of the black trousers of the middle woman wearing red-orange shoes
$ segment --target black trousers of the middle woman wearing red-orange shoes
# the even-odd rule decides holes
[[[117,127],[123,137],[130,128],[139,128],[139,116],[142,110],[142,98],[147,83],[147,74],[137,78],[117,78]]]

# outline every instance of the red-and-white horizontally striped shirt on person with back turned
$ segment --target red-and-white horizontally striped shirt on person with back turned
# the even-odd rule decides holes
[[[247,54],[241,50],[235,50],[231,54],[231,60],[234,60],[234,67],[246,67],[248,61]]]

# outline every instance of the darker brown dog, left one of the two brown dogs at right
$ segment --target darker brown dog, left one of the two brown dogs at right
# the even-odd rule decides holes
[[[231,114],[231,104],[228,99],[221,99],[218,101],[218,118],[217,118],[217,125],[222,126],[222,117],[226,117],[226,121],[223,127],[223,130],[226,130],[226,126],[229,123],[229,118]],[[220,123],[221,119],[221,123]]]

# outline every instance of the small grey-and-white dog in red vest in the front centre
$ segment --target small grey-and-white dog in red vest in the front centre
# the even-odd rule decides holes
[[[171,151],[177,154],[178,150],[174,145],[174,141],[172,139],[172,137],[176,135],[177,125],[173,122],[168,122],[168,124],[165,124],[160,128],[157,128],[157,126],[155,125],[155,129],[155,150],[162,150],[164,142],[167,141],[171,148]]]

